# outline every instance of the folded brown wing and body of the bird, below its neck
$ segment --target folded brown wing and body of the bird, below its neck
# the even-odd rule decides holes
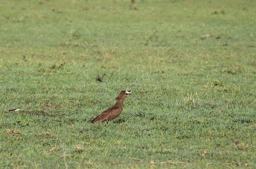
[[[108,108],[107,110],[103,111],[102,114],[100,114],[95,119],[93,119],[91,121],[91,123],[102,122],[102,121],[115,119],[115,117],[116,117],[115,114],[118,111],[121,111],[120,108],[117,108],[117,107]]]

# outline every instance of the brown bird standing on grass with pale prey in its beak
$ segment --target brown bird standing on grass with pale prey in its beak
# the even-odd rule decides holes
[[[108,121],[117,118],[123,110],[123,101],[129,94],[131,94],[131,91],[121,91],[117,98],[115,98],[115,100],[117,100],[115,105],[103,111],[102,114],[93,119],[91,123]]]

